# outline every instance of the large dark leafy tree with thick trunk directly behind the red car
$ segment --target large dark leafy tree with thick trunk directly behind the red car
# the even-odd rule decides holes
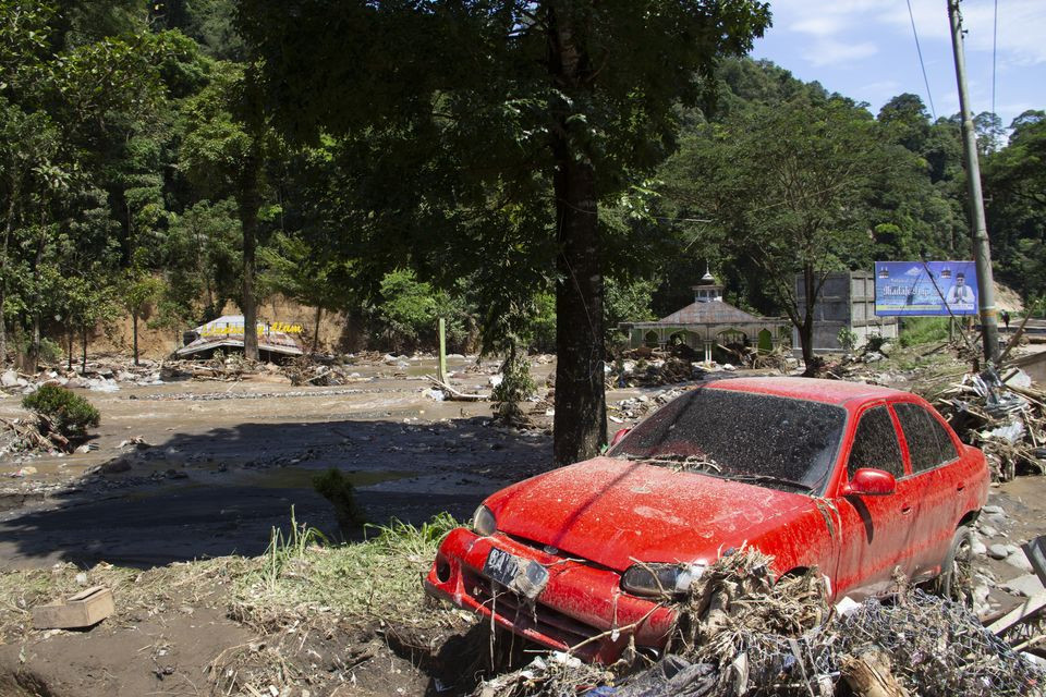
[[[508,225],[519,246],[500,254],[525,268],[502,274],[502,297],[555,266],[557,463],[606,442],[600,203],[662,159],[677,105],[768,22],[755,0],[245,0],[240,14],[284,132],[381,144],[349,194],[362,227],[392,223],[401,258],[421,240],[445,267],[461,266],[455,244],[473,268],[477,250],[497,264],[485,243]]]

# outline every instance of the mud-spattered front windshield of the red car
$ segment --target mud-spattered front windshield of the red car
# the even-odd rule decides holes
[[[831,404],[698,388],[636,426],[610,454],[819,493],[846,420],[846,409]]]

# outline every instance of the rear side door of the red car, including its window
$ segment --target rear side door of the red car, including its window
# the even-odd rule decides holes
[[[957,482],[949,464],[959,458],[951,436],[922,404],[893,405],[911,467],[909,485],[915,498],[912,516],[912,577],[933,575],[951,545],[958,521]]]

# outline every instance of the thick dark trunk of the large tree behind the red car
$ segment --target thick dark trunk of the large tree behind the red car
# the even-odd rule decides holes
[[[574,40],[569,10],[548,9],[549,71],[557,87],[591,89],[591,65]],[[603,264],[596,204],[596,170],[572,146],[563,106],[552,136],[556,161],[556,417],[557,465],[599,454],[607,442],[604,383]]]

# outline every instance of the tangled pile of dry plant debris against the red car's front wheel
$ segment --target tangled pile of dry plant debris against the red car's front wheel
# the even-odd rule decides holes
[[[552,653],[473,694],[1042,695],[1046,671],[959,603],[900,584],[889,601],[832,608],[816,571],[775,583],[771,562],[747,548],[709,566],[677,604],[677,628],[654,664],[604,669]]]

